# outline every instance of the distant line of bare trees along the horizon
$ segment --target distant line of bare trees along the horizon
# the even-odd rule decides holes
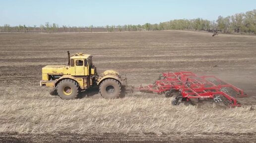
[[[65,32],[124,32],[124,31],[161,31],[161,30],[191,30],[191,31],[218,31],[222,33],[250,33],[256,34],[256,9],[246,13],[237,13],[232,16],[219,16],[216,21],[209,21],[202,18],[178,19],[159,24],[145,23],[143,25],[106,25],[101,27],[85,26],[70,27],[59,26],[56,23],[46,22],[37,27],[34,25],[19,25],[11,27],[5,24],[0,27],[0,32],[41,32],[41,33],[65,33]]]

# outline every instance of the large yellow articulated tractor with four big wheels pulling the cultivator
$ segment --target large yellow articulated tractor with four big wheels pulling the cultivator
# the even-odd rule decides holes
[[[99,87],[103,98],[119,98],[127,79],[116,71],[107,70],[100,75],[92,64],[92,56],[78,53],[71,55],[67,51],[66,66],[45,66],[42,68],[40,86],[53,87],[62,99],[75,99],[80,91]]]

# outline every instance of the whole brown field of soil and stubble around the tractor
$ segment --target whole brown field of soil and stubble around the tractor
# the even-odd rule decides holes
[[[0,34],[0,142],[256,142],[256,36],[187,31]],[[129,85],[161,72],[215,75],[250,95],[243,107],[172,106],[172,98],[129,93],[105,100],[84,92],[61,100],[40,87],[41,68],[66,51],[93,55],[98,72],[126,73]]]

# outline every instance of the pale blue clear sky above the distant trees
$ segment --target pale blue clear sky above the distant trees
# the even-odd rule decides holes
[[[256,0],[0,0],[0,26],[106,26],[174,19],[216,20],[256,9]]]

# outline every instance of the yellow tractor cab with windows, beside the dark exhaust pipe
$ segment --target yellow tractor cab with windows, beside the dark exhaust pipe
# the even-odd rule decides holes
[[[94,75],[96,72],[96,68],[92,65],[92,56],[88,54],[78,53],[71,55],[68,66],[70,66],[70,74],[73,76]]]

